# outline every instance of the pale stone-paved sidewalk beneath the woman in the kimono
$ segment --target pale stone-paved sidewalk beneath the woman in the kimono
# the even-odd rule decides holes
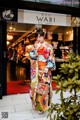
[[[65,97],[69,96],[69,93],[64,93]],[[53,91],[53,103],[59,103],[59,93],[55,94]],[[8,119],[2,118],[2,112],[8,112]],[[40,115],[33,110],[29,94],[15,94],[3,96],[0,100],[0,120],[49,120],[47,118],[47,112]],[[7,113],[6,113],[7,115]]]

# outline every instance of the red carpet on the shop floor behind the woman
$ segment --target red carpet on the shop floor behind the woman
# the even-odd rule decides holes
[[[52,89],[56,89],[56,83],[52,82]],[[7,83],[7,95],[18,94],[18,93],[29,93],[30,83],[29,81],[10,81]]]

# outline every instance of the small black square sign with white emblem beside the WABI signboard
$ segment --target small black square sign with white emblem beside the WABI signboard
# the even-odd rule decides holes
[[[16,9],[1,9],[0,19],[3,21],[15,21],[17,22],[17,10]]]

